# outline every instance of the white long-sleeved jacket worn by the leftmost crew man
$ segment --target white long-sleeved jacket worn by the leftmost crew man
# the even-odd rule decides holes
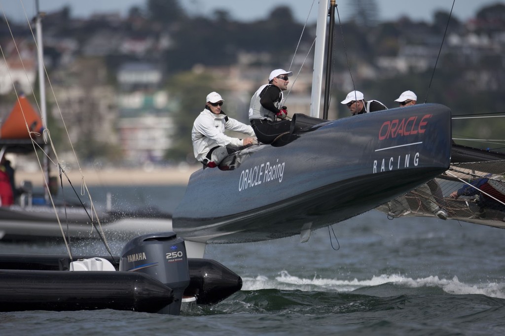
[[[204,109],[196,117],[191,131],[194,157],[201,162],[205,159],[207,153],[216,146],[242,146],[242,139],[225,135],[225,130],[255,136],[252,127],[249,125],[227,117],[224,113],[215,115],[210,110]]]

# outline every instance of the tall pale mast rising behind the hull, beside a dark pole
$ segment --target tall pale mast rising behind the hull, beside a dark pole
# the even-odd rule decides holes
[[[314,52],[314,73],[312,77],[311,117],[319,118],[321,109],[321,91],[323,86],[324,48],[326,26],[328,25],[329,0],[319,1],[316,27],[316,49]]]

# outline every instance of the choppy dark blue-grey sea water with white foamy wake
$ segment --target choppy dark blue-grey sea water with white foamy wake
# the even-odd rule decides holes
[[[118,195],[133,195],[118,198],[123,205],[145,199],[170,211],[181,192],[123,188]],[[174,202],[164,204],[164,194]],[[181,316],[35,311],[0,313],[0,325],[3,334],[40,335],[505,334],[505,231],[454,220],[388,220],[375,210],[332,228],[338,243],[322,229],[307,243],[291,237],[208,246],[206,257],[239,274],[242,290],[214,306],[186,306]],[[113,252],[124,243],[112,242]],[[73,249],[100,246],[80,242]],[[65,249],[0,243],[0,252]]]

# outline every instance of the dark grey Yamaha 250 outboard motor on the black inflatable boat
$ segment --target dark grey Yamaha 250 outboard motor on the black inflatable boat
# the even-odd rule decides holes
[[[175,232],[147,234],[129,241],[121,253],[119,270],[146,273],[170,287],[174,302],[158,313],[179,315],[182,295],[189,285],[189,268],[184,240]]]

